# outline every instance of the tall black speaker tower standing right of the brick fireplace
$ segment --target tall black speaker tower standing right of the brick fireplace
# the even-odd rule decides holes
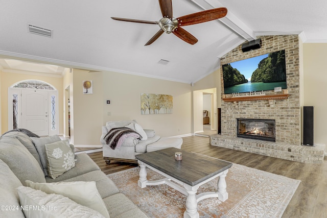
[[[313,106],[303,107],[303,146],[313,146]]]

